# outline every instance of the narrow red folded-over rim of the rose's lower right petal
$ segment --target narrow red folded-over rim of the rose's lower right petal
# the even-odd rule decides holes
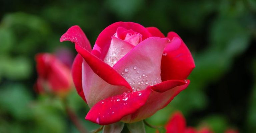
[[[187,84],[187,80],[167,80],[164,82],[161,82],[159,84],[151,86],[151,89],[156,92],[165,92],[168,91],[176,86],[181,86],[184,84]]]

